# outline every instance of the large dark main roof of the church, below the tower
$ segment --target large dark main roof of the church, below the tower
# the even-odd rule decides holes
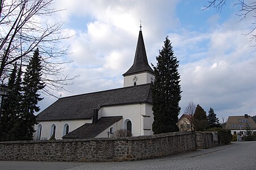
[[[94,109],[106,105],[152,103],[150,84],[62,97],[37,114],[37,121],[78,120],[93,117]]]

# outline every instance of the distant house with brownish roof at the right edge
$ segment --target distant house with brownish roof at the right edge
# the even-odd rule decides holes
[[[248,116],[248,114],[244,116],[229,116],[225,129],[231,130],[232,134],[245,134],[247,126],[249,126],[251,130],[256,131],[256,124],[253,118]]]

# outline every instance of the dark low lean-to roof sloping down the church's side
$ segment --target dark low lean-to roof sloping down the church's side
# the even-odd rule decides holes
[[[63,139],[81,139],[94,138],[96,135],[107,129],[115,122],[120,121],[123,116],[101,117],[95,124],[85,124],[70,133],[66,134]],[[107,135],[107,134],[106,134]]]

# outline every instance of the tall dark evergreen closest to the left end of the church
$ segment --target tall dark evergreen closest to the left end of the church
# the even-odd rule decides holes
[[[23,125],[20,129],[21,140],[31,140],[33,126],[36,124],[35,112],[39,112],[40,108],[37,106],[38,101],[43,100],[40,97],[39,90],[42,90],[45,85],[41,82],[41,60],[39,56],[39,49],[37,48],[33,53],[33,57],[27,66],[26,73],[23,79],[24,98],[22,101],[22,115],[20,116],[20,124]]]

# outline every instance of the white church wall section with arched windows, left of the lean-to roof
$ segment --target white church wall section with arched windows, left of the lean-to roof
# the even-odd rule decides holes
[[[51,127],[54,124],[56,126],[55,139],[62,139],[64,125],[69,125],[69,132],[73,131],[84,124],[91,124],[92,119],[88,120],[63,120],[63,121],[41,121],[39,124],[35,125],[35,134],[37,134],[37,127],[41,125],[41,138],[40,139],[49,139],[51,138]]]

